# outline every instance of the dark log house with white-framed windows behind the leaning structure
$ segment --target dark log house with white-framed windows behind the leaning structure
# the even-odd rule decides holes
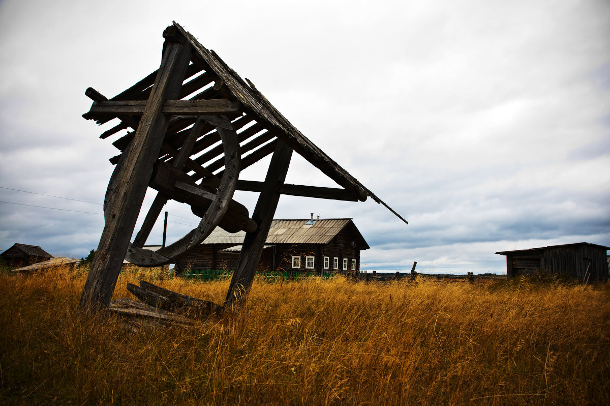
[[[245,231],[217,227],[198,248],[176,261],[184,269],[234,269]],[[370,248],[352,219],[273,220],[258,270],[340,272],[360,270],[360,252]]]

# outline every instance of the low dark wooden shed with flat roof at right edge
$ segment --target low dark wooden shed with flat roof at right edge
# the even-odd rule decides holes
[[[528,250],[501,251],[506,256],[506,276],[557,275],[584,281],[607,281],[607,251],[604,245],[577,242]]]

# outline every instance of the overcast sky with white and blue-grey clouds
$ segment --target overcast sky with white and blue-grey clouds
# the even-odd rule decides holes
[[[1,248],[97,247],[116,137],[81,117],[84,91],[156,70],[172,20],[409,220],[281,198],[276,218],[353,217],[363,268],[505,273],[494,252],[610,245],[610,2],[224,3],[0,1]],[[296,157],[287,181],[335,186]],[[236,194],[250,211],[255,198]],[[167,209],[170,242],[198,222]]]

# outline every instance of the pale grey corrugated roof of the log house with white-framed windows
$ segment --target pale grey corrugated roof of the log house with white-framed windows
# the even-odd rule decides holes
[[[361,250],[370,248],[362,234],[348,219],[318,219],[311,226],[306,225],[310,219],[273,220],[267,235],[267,244],[328,244],[344,228],[348,230]],[[245,231],[229,233],[220,227],[214,231],[201,244],[234,244],[243,243]]]

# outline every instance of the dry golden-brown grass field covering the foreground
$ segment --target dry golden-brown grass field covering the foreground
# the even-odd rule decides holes
[[[224,301],[228,281],[159,279]],[[85,275],[0,274],[5,404],[609,404],[610,289],[557,281],[256,280],[184,329],[79,317]]]

